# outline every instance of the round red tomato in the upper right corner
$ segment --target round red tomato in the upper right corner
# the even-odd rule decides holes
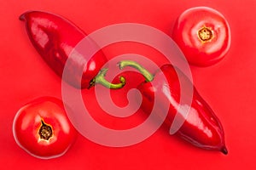
[[[230,48],[230,26],[215,9],[189,8],[178,17],[172,38],[189,64],[213,65],[223,59]]]

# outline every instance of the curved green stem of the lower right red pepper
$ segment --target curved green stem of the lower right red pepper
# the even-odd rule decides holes
[[[154,79],[154,75],[151,74],[149,71],[147,71],[143,65],[138,64],[136,61],[132,61],[132,60],[122,60],[119,62],[119,69],[122,70],[124,69],[126,66],[131,66],[135,69],[137,69],[137,71],[139,71],[143,77],[145,77],[146,82],[151,82]]]

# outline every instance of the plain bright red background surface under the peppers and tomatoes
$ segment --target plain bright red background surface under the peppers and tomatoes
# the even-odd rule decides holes
[[[0,164],[3,169],[255,169],[254,113],[256,28],[254,0],[241,1],[1,1],[0,26]],[[154,26],[171,35],[184,9],[209,6],[230,23],[229,54],[217,65],[191,67],[195,86],[223,123],[228,156],[201,150],[166,135],[160,128],[140,144],[111,148],[79,136],[67,154],[49,161],[29,156],[15,144],[12,122],[16,111],[39,96],[61,98],[61,81],[32,48],[20,14],[41,9],[61,14],[87,33],[115,23]],[[104,49],[108,59],[136,53],[129,46]],[[134,50],[134,51],[133,51]],[[143,48],[139,50],[143,54]],[[152,52],[152,55],[155,52]],[[159,58],[158,58],[159,59]],[[160,62],[160,61],[158,61]],[[116,92],[114,92],[116,93]],[[84,95],[90,92],[85,92]],[[99,110],[100,111],[100,110]]]

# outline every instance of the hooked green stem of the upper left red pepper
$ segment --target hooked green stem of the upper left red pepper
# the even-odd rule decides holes
[[[125,86],[125,77],[119,77],[119,83],[113,84],[111,82],[108,82],[105,79],[106,73],[108,69],[102,69],[97,76],[90,82],[90,87],[94,86],[95,84],[102,84],[102,86],[106,88],[111,88],[111,89],[118,89],[118,88],[123,88]]]

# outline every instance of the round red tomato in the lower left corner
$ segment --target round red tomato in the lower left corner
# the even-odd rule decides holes
[[[42,159],[62,156],[73,144],[77,131],[60,99],[43,97],[20,108],[13,124],[15,141]]]

